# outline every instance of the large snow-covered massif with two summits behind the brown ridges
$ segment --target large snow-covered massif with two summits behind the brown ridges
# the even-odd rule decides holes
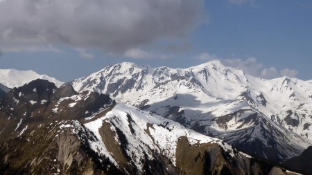
[[[312,81],[264,80],[213,61],[184,69],[121,63],[72,84],[270,160],[284,161],[311,145]]]

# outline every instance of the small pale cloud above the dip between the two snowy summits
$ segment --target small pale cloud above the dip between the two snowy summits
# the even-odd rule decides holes
[[[141,48],[131,48],[126,50],[124,56],[133,59],[167,59],[171,57],[170,55],[150,53],[145,50],[141,50]]]

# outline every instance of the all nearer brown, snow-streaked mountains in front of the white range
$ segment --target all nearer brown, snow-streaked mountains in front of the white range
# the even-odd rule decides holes
[[[35,80],[0,100],[0,174],[286,174],[107,95]]]

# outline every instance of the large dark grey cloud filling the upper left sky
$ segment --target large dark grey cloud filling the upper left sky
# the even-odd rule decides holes
[[[184,37],[203,17],[203,0],[2,0],[0,48],[53,50],[51,44],[125,53]]]

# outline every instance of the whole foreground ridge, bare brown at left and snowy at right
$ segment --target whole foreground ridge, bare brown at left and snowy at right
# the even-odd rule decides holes
[[[101,114],[105,110],[85,122],[55,121],[4,142],[0,145],[1,172],[286,174],[283,169],[240,154],[222,140],[155,114],[125,104]]]

